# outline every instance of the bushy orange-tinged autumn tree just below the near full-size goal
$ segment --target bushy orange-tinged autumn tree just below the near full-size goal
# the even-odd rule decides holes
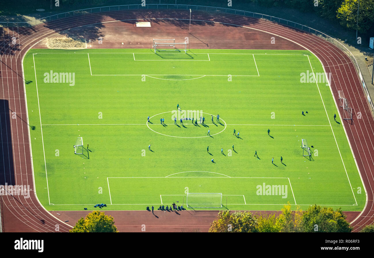
[[[220,211],[209,232],[256,232],[257,219],[250,212]]]

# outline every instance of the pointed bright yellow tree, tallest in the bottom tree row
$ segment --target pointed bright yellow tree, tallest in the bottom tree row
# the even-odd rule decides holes
[[[280,228],[280,232],[303,232],[303,226],[301,225],[301,217],[303,211],[300,206],[296,207],[293,212],[291,210],[291,204],[284,205],[282,213],[279,214],[276,224]]]

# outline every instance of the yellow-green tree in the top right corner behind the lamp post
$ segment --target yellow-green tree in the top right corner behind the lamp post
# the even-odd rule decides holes
[[[358,0],[344,0],[337,11],[337,18],[343,27],[358,30],[361,33],[374,32],[374,1],[360,0],[357,26]]]

